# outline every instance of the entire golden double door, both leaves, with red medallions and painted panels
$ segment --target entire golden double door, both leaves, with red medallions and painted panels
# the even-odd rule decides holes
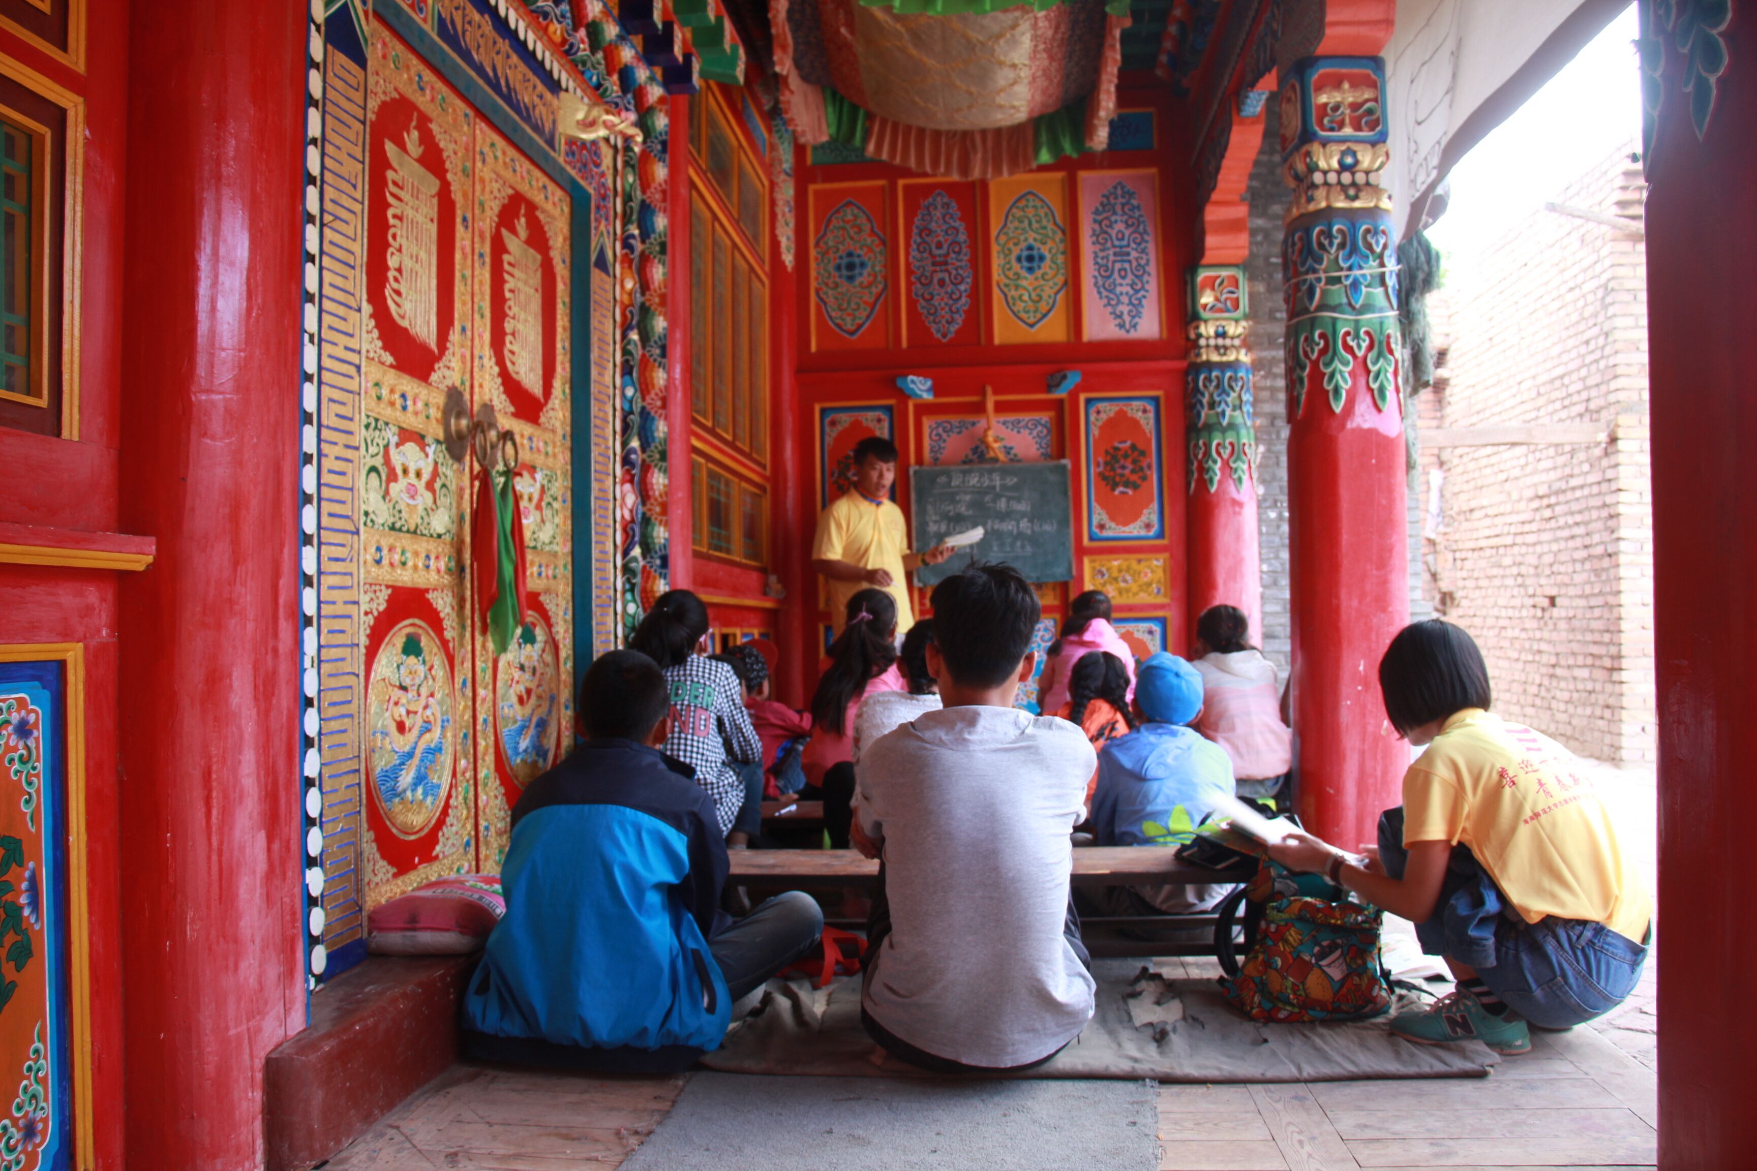
[[[497,869],[518,788],[566,743],[566,193],[402,40],[367,70],[365,386],[360,420],[360,909]],[[445,397],[511,441],[457,462]],[[495,657],[471,511],[511,479],[527,620]],[[494,527],[490,525],[490,530]],[[511,736],[503,741],[503,734]],[[506,748],[506,743],[511,748]],[[508,751],[511,758],[508,764]],[[330,948],[341,939],[330,941]]]

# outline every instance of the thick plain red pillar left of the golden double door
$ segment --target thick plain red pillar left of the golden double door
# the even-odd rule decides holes
[[[132,5],[121,527],[125,1141],[262,1166],[304,1025],[299,386],[306,14]]]

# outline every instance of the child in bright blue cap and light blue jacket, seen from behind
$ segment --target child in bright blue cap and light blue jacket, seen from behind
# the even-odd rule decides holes
[[[1181,846],[1214,811],[1214,797],[1237,792],[1232,758],[1188,727],[1202,713],[1202,676],[1160,651],[1135,671],[1140,729],[1098,753],[1093,837],[1100,846]],[[1232,887],[1114,887],[1109,915],[1200,911]]]

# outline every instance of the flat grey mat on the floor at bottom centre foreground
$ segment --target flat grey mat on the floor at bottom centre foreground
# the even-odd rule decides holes
[[[622,1171],[1154,1171],[1146,1081],[698,1073]]]

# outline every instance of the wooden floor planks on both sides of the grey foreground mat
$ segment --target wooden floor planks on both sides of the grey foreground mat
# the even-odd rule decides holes
[[[325,1171],[622,1164],[685,1078],[457,1066]],[[1588,1029],[1534,1034],[1488,1078],[1161,1085],[1161,1171],[1652,1167],[1657,1081]]]

